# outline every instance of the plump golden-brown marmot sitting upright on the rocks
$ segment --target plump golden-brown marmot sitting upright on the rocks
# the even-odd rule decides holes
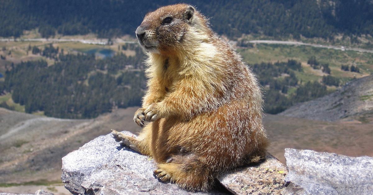
[[[148,54],[148,91],[134,117],[144,128],[136,139],[113,135],[153,157],[158,179],[208,191],[220,174],[264,158],[257,79],[208,19],[187,4],[160,7],[136,35]]]

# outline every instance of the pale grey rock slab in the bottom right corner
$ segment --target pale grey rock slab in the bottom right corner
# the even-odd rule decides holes
[[[285,149],[289,185],[282,194],[373,194],[373,158]]]

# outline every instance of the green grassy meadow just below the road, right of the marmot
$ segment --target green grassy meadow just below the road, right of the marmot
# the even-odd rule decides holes
[[[277,62],[294,59],[302,63],[304,72],[297,73],[297,77],[303,81],[321,80],[325,73],[321,70],[314,70],[307,65],[308,59],[316,56],[320,63],[328,63],[331,75],[347,81],[349,78],[360,78],[373,73],[373,53],[363,53],[356,51],[341,51],[327,48],[316,48],[310,46],[292,45],[267,45],[258,44],[255,47],[239,48],[245,62]],[[342,65],[354,65],[361,69],[360,73],[341,70]]]

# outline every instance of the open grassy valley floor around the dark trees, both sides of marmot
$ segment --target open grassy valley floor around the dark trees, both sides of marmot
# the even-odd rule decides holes
[[[268,41],[262,43],[263,41],[257,40],[251,40],[251,42],[252,43],[250,43],[249,45],[244,46],[242,46],[242,44],[232,42],[233,44],[236,44],[235,47],[237,48],[238,52],[241,53],[244,61],[251,67],[254,64],[262,62],[276,63],[286,62],[287,60],[296,60],[297,62],[301,63],[301,70],[294,71],[295,77],[298,80],[298,84],[295,86],[286,86],[285,91],[282,90],[282,92],[279,93],[282,98],[287,97],[290,101],[290,104],[292,104],[292,100],[290,99],[297,92],[297,88],[306,84],[307,82],[322,83],[323,78],[330,75],[333,76],[333,78],[339,80],[339,86],[341,86],[351,79],[361,78],[373,73],[373,53],[340,50],[339,46],[334,46],[332,48],[322,48],[315,44],[288,45],[289,43],[286,41],[275,41],[273,42],[274,44],[271,44],[272,42]],[[128,59],[134,58],[137,62],[142,62],[144,54],[138,48],[138,45],[133,43],[135,43],[135,39],[129,35],[125,35],[116,39],[102,39],[98,38],[97,35],[94,34],[69,36],[59,35],[53,39],[46,39],[41,38],[40,34],[38,34],[37,31],[27,31],[25,32],[25,35],[17,39],[17,41],[9,41],[9,39],[0,41],[0,48],[2,48],[2,50],[0,50],[0,54],[1,56],[3,56],[0,59],[0,74],[2,75],[2,77],[0,75],[0,87],[1,82],[5,80],[6,70],[12,69],[12,63],[14,64],[14,66],[17,66],[17,64],[21,62],[44,60],[49,67],[60,61],[60,59],[58,59],[58,56],[68,54],[93,54],[96,60],[105,59],[106,57],[110,58],[117,55],[124,55]],[[293,44],[294,42],[290,43]],[[331,46],[325,45],[325,47]],[[44,53],[44,50],[50,50],[48,48],[57,50],[57,53],[54,53],[53,57],[48,56],[48,53]],[[327,64],[329,66],[330,73],[325,73],[320,68],[315,69],[315,67],[312,67],[312,65],[309,65],[307,63],[308,60],[314,56],[317,56],[316,59],[318,63]],[[123,62],[123,64],[125,65],[132,62],[133,60],[130,62]],[[358,67],[359,72],[342,70],[342,66]],[[128,66],[128,68],[129,71],[143,71],[130,66]],[[117,79],[120,73],[129,72],[128,70],[119,70],[118,72],[114,72],[112,76]],[[85,76],[85,78],[87,79],[83,79],[82,81],[79,80],[78,82],[88,84],[89,78],[96,75],[97,73],[107,74],[106,67],[99,67],[97,70],[89,72],[87,76]],[[274,79],[282,82],[282,80],[286,79],[286,77],[288,77],[288,74],[283,73],[282,76],[279,76],[277,78],[275,77]],[[261,80],[266,78],[262,78],[261,76],[259,76],[259,79]],[[338,86],[336,87],[332,85],[327,85],[326,87],[328,92],[335,91],[339,88]],[[264,88],[268,90],[266,86],[264,86]],[[15,103],[11,98],[12,94],[10,94],[10,92],[11,91],[8,90],[6,94],[0,94],[0,107],[5,106],[8,109],[25,111],[25,105],[21,105],[18,102]],[[268,92],[265,92],[265,94],[267,93]],[[45,114],[43,110],[33,110],[32,113],[39,115]]]

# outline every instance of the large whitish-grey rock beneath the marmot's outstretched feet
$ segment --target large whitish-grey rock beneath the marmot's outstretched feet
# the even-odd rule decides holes
[[[62,181],[73,194],[193,194],[159,182],[153,176],[155,169],[148,156],[120,145],[108,134],[62,158]]]

